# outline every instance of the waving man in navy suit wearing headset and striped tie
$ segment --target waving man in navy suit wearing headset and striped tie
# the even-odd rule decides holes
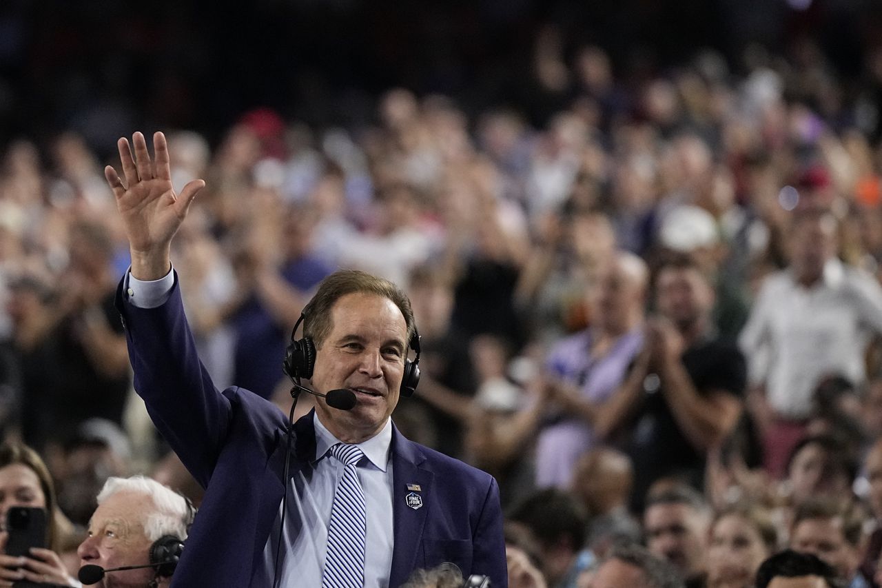
[[[132,144],[134,154],[127,139],[118,143],[123,177],[109,166],[105,175],[131,248],[117,305],[135,389],[206,486],[173,585],[323,585],[334,491],[344,467],[329,454],[339,443],[363,454],[357,479],[366,518],[358,572],[364,586],[397,587],[414,569],[443,562],[465,576],[507,585],[496,481],[407,441],[392,425],[415,332],[407,297],[374,276],[338,272],[304,309],[303,332],[316,348],[311,387],[347,388],[356,403],[341,411],[317,398],[316,410],[295,424],[290,475],[283,479],[287,419],[247,390],[214,388],[183,313],[170,245],[205,183],[194,180],[176,194],[162,133],[153,137],[153,161],[142,134],[135,133]]]

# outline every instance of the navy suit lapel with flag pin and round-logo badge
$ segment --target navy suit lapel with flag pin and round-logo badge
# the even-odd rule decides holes
[[[416,567],[422,567],[418,557],[426,516],[431,509],[434,479],[431,471],[420,467],[424,461],[422,451],[392,425],[392,526],[395,543],[390,586],[404,584]]]

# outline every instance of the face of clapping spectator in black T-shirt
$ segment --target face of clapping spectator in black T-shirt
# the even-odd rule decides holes
[[[711,311],[714,292],[695,268],[666,268],[655,283],[659,312],[677,328],[689,328]]]

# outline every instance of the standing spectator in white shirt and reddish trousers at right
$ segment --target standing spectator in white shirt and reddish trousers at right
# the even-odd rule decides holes
[[[826,373],[864,380],[868,338],[882,332],[882,289],[835,256],[833,215],[805,209],[793,217],[792,259],[763,284],[740,337],[751,384],[763,390],[766,468],[781,476],[804,434],[811,392]]]

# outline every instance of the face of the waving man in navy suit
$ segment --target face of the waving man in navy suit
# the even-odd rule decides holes
[[[316,350],[312,386],[326,393],[355,392],[355,408],[340,411],[317,398],[318,418],[347,443],[370,439],[398,404],[407,356],[407,323],[392,300],[376,294],[340,297],[331,310],[332,328]]]

